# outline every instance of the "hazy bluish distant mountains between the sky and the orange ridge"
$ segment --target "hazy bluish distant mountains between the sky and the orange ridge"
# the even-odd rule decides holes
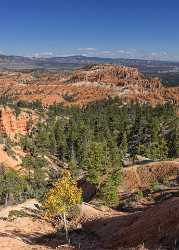
[[[113,59],[86,56],[67,57],[23,57],[0,55],[0,70],[72,70],[89,64],[118,64],[138,68],[148,76],[158,76],[164,83],[179,84],[179,62],[141,59]]]

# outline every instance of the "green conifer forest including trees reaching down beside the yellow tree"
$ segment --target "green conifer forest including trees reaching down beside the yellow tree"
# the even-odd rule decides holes
[[[65,163],[74,179],[95,185],[97,197],[111,206],[119,200],[117,188],[126,159],[178,156],[178,118],[171,104],[123,105],[115,98],[83,108],[56,104],[40,108],[40,114],[41,121],[20,140],[27,153],[23,166],[29,172],[30,197],[43,197],[61,174],[54,177],[49,172],[44,155]]]

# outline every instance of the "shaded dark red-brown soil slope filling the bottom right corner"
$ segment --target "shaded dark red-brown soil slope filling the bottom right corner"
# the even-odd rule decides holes
[[[105,249],[137,247],[178,249],[179,198],[167,200],[144,212],[99,219],[86,223]]]

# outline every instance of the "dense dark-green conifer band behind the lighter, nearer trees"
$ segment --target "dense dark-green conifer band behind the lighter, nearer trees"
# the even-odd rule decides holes
[[[26,140],[32,154],[49,152],[83,167],[93,143],[106,147],[110,154],[117,149],[122,156],[139,154],[156,160],[177,157],[177,137],[175,106],[122,105],[116,98],[84,108],[50,106],[45,121]]]

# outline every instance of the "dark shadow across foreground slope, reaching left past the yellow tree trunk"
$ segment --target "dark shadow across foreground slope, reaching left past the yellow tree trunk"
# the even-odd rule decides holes
[[[55,249],[66,244],[63,231],[48,235],[39,232],[14,234],[31,245]],[[88,221],[82,229],[73,230],[69,235],[72,249],[138,249],[141,244],[149,250],[179,249],[179,198],[169,199],[142,212]]]

